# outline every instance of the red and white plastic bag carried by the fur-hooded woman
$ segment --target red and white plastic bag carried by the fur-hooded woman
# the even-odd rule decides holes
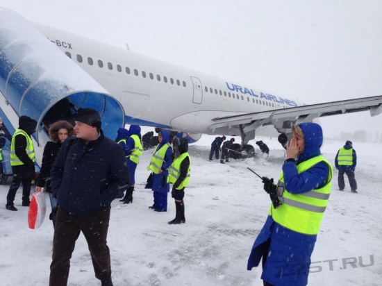
[[[28,226],[31,229],[40,228],[47,212],[47,202],[42,192],[34,192],[28,210]]]

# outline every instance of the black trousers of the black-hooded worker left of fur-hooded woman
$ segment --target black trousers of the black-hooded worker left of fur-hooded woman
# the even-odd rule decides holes
[[[13,205],[15,201],[15,196],[17,190],[19,190],[20,183],[22,183],[22,202],[28,203],[29,196],[31,195],[31,186],[33,175],[35,174],[35,167],[28,167],[25,165],[12,167],[13,180],[10,184],[8,195],[7,195],[7,204]]]

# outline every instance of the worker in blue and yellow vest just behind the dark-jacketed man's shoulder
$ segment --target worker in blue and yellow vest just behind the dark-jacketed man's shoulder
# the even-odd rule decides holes
[[[124,128],[119,128],[119,131]],[[137,165],[140,162],[140,156],[143,153],[142,148],[142,140],[140,135],[140,126],[138,125],[131,125],[128,129],[127,133],[119,132],[119,134],[123,134],[121,140],[117,141],[119,137],[117,137],[117,143],[122,146],[122,148],[125,151],[126,154],[126,160],[128,164],[128,169],[130,169],[130,186],[126,190],[126,194],[124,198],[120,201],[123,203],[133,203],[133,192],[135,187],[135,169],[137,169]]]

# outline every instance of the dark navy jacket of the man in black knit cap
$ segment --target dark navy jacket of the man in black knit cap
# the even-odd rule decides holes
[[[70,140],[73,144],[67,152]],[[102,131],[88,145],[75,136],[67,138],[51,169],[53,196],[72,215],[109,208],[128,185],[130,171],[124,151]]]

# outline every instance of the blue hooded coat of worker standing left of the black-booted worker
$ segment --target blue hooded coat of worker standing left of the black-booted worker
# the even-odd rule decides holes
[[[161,130],[162,131],[162,142],[158,145],[157,150],[162,148],[163,145],[167,144],[169,142],[169,132],[167,130]],[[162,165],[162,174],[153,174],[151,180],[147,182],[145,189],[151,189],[154,192],[160,192],[160,193],[167,193],[169,192],[169,183],[167,183],[167,177],[169,175],[169,172],[167,169],[172,165],[172,148],[167,148],[167,151],[165,153],[165,161]]]

